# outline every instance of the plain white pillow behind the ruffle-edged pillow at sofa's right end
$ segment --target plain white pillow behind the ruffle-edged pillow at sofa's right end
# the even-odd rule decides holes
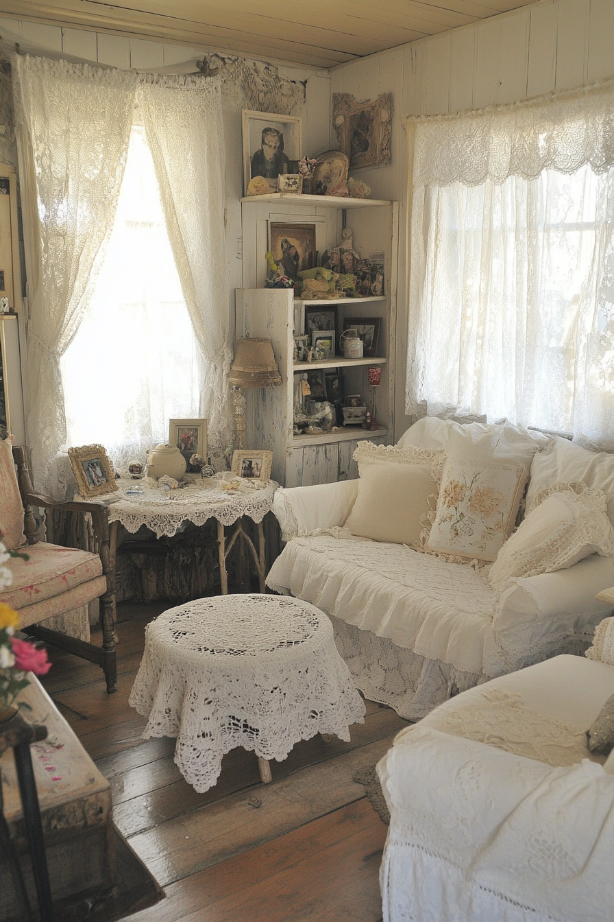
[[[614,525],[614,455],[589,452],[581,445],[559,436],[535,455],[528,481],[527,509],[537,495],[558,481],[581,480],[593,490],[602,490],[608,498],[608,519]]]

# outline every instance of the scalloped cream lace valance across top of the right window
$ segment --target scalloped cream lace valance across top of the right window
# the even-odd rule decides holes
[[[614,166],[614,80],[480,111],[406,116],[404,123],[415,125],[414,189]]]

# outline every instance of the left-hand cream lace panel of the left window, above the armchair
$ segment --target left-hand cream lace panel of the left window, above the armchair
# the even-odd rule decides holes
[[[26,420],[35,482],[57,490],[66,441],[60,360],[81,321],[115,215],[133,121],[134,73],[12,56],[16,124],[38,199]],[[30,212],[31,213],[31,212]],[[104,386],[104,382],[98,382]]]

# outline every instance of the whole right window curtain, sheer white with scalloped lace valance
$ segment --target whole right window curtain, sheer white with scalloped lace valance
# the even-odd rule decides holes
[[[405,122],[408,412],[614,447],[614,81]]]

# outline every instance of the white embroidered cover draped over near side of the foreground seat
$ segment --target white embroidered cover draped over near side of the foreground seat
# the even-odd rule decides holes
[[[609,922],[614,777],[452,740],[424,722],[377,766],[384,922]]]

